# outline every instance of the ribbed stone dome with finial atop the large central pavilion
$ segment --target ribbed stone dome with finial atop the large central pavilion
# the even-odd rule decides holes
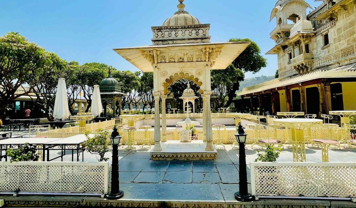
[[[178,1],[178,11],[174,13],[173,16],[166,19],[166,21],[163,22],[162,26],[200,25],[201,23],[196,17],[190,15],[187,11],[184,11],[184,0]]]

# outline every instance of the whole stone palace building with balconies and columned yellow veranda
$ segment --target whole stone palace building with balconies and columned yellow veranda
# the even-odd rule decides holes
[[[266,54],[278,56],[278,78],[238,93],[242,110],[320,116],[356,108],[356,1],[326,0],[307,15],[308,7],[277,1],[270,17],[276,45]]]

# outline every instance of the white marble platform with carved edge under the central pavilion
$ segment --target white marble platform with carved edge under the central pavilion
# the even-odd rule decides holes
[[[213,151],[206,151],[206,142],[201,140],[193,140],[191,142],[180,142],[170,140],[161,142],[162,150],[154,152],[151,150],[151,157],[153,160],[166,160],[166,159],[215,159],[218,152],[213,146]]]

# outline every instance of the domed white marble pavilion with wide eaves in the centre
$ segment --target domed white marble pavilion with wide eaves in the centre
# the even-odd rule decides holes
[[[184,0],[179,0],[178,11],[166,19],[162,26],[152,27],[153,45],[113,49],[143,72],[153,72],[155,109],[162,99],[162,138],[159,111],[155,111],[155,147],[151,154],[169,158],[173,153],[162,148],[166,139],[167,87],[182,78],[194,81],[203,97],[203,128],[205,150],[185,150],[189,155],[216,156],[212,143],[210,115],[210,70],[226,69],[250,42],[210,42],[210,24],[200,21],[184,10]],[[204,141],[205,141],[204,140]],[[180,153],[181,154],[181,153]],[[192,156],[189,156],[192,157]]]

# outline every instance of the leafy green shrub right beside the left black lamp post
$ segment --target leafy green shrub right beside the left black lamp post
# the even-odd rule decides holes
[[[84,142],[84,148],[91,154],[96,154],[96,159],[99,162],[108,161],[109,158],[104,157],[106,152],[109,152],[109,132],[99,129],[98,133],[95,133],[93,137],[89,136],[90,132],[85,132],[87,141]]]

